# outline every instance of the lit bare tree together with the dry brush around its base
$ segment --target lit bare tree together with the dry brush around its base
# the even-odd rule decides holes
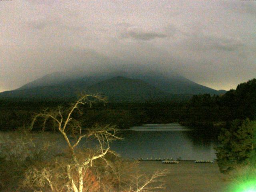
[[[88,177],[88,174],[92,171],[92,168],[96,167],[94,162],[101,160],[106,166],[114,170],[114,165],[106,158],[108,154],[116,156],[116,153],[110,150],[110,142],[112,140],[120,139],[116,135],[116,129],[114,126],[94,126],[86,131],[82,130],[82,126],[79,121],[75,120],[72,115],[75,111],[80,113],[79,106],[88,104],[92,105],[95,101],[105,101],[98,95],[85,94],[82,95],[74,104],[71,105],[68,112],[59,107],[56,110],[44,110],[44,112],[37,114],[31,125],[31,129],[38,118],[42,118],[43,130],[48,120],[52,120],[57,127],[58,132],[63,136],[65,143],[68,147],[68,158],[58,157],[54,162],[46,163],[41,168],[37,166],[31,166],[26,172],[26,180],[24,184],[26,186],[35,186],[38,190],[43,187],[48,187],[48,190],[52,192],[92,192],[89,183],[92,177]],[[97,142],[97,148],[94,150],[80,150],[79,144],[82,139],[92,138],[94,142]],[[53,161],[53,160],[51,160]],[[64,174],[60,174],[60,173]],[[151,178],[146,179],[144,176],[136,176],[130,180],[130,182],[122,182],[120,174],[118,182],[122,182],[122,188],[119,186],[118,191],[123,192],[149,192],[152,190],[163,188],[162,185],[151,186],[157,181],[160,176],[165,175],[167,172],[157,172]],[[100,180],[100,176],[98,176]],[[62,180],[59,184],[56,184],[56,180]],[[102,183],[102,191],[116,191],[112,184],[114,179],[109,184]],[[61,183],[61,184],[60,184]],[[87,187],[86,187],[87,186]],[[88,187],[89,186],[89,187]]]

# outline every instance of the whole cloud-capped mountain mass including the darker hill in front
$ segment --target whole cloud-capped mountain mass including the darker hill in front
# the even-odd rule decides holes
[[[68,99],[78,93],[102,94],[111,101],[188,99],[193,94],[223,94],[182,76],[160,73],[69,74],[56,72],[38,78],[20,88],[0,93],[0,98]]]

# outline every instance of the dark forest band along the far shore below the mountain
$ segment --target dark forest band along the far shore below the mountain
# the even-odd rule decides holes
[[[68,101],[28,101],[0,100],[0,130],[14,130],[29,126],[33,116],[45,109],[58,106],[66,108]],[[84,106],[74,116],[82,122],[83,127],[94,124],[117,125],[118,128],[128,128],[146,123],[179,122],[182,119],[182,109],[186,102],[145,102],[145,103],[94,103],[91,107]],[[38,122],[38,125],[40,123]],[[53,126],[48,122],[46,127]]]

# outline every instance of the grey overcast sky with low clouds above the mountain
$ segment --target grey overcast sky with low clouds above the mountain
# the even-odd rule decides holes
[[[0,1],[0,92],[55,71],[140,67],[217,90],[256,78],[256,1]]]

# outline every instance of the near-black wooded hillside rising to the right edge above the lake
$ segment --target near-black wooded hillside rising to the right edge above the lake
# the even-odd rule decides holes
[[[239,84],[221,96],[195,95],[186,106],[185,122],[230,122],[256,118],[256,79]]]

